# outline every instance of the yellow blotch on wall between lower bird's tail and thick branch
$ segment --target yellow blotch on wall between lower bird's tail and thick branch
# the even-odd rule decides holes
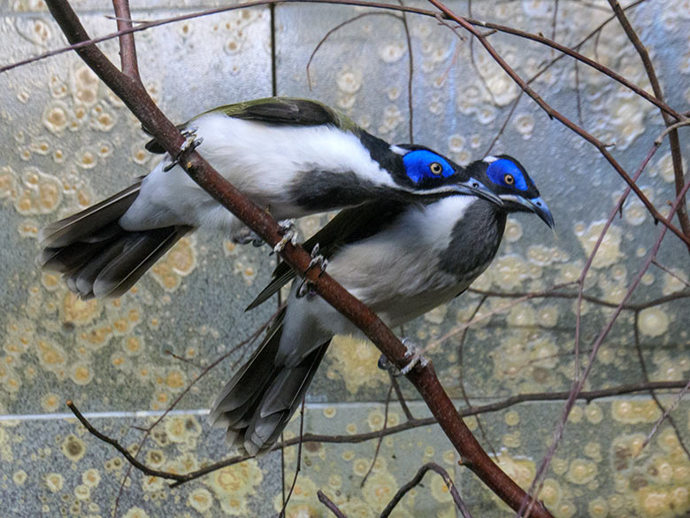
[[[326,359],[331,360],[329,377],[341,378],[353,394],[364,387],[377,387],[387,382],[387,375],[377,367],[379,357],[379,350],[371,342],[336,336],[326,353]]]

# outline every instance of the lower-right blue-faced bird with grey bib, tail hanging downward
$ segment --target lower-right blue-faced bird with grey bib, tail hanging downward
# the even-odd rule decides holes
[[[487,157],[468,174],[493,189],[502,204],[450,196],[426,205],[370,203],[339,213],[303,246],[328,260],[328,273],[389,326],[410,321],[466,290],[494,259],[508,213],[554,220],[515,158]],[[249,307],[295,277],[285,264]],[[303,398],[334,335],[357,328],[322,298],[293,285],[287,305],[249,361],[211,408],[211,424],[249,454],[275,444]],[[408,367],[406,367],[408,368]]]

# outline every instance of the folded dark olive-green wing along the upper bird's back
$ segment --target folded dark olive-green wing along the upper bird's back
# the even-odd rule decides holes
[[[226,104],[204,112],[203,115],[214,112],[225,113],[228,117],[235,119],[257,120],[272,125],[321,126],[330,124],[335,128],[354,133],[357,133],[359,129],[352,120],[329,108],[326,104],[295,97],[266,97],[243,103]],[[181,130],[188,126],[194,126],[193,120],[180,124],[177,128]],[[143,130],[149,133],[146,128]],[[165,152],[155,139],[146,144],[146,149],[152,153]]]

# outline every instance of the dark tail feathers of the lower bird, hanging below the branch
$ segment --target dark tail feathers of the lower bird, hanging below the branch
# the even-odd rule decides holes
[[[211,406],[209,422],[226,429],[226,443],[250,455],[269,452],[295,413],[329,342],[294,367],[276,363],[284,312],[264,342]]]

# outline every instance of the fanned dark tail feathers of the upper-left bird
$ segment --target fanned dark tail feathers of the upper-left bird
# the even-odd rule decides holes
[[[184,236],[189,227],[129,232],[118,220],[134,203],[141,182],[72,216],[42,228],[43,269],[63,274],[82,298],[119,297]]]

